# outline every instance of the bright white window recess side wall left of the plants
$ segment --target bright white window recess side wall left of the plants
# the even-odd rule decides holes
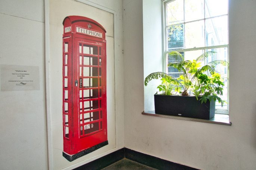
[[[163,41],[161,0],[143,0],[143,56],[144,78],[150,73],[163,71]],[[154,97],[160,80],[152,80],[144,88],[144,111],[152,111]]]

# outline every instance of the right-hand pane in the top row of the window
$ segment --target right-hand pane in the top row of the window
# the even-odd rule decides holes
[[[207,18],[225,14],[228,14],[228,0],[205,0]]]

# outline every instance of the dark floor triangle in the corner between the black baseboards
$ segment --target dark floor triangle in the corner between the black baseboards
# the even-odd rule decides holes
[[[122,160],[117,161],[116,163],[113,163],[102,170],[157,170],[157,169],[123,158]]]

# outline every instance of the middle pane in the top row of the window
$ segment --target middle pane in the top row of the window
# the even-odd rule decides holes
[[[185,0],[185,22],[204,18],[204,0]]]

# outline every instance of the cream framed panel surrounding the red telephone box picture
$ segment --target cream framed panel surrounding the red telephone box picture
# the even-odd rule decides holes
[[[116,116],[115,116],[115,55],[117,51],[117,44],[121,44],[120,41],[115,42],[114,35],[114,20],[117,20],[116,12],[114,10],[103,7],[99,4],[92,3],[90,1],[75,2],[71,0],[56,1],[56,0],[45,0],[45,18],[46,18],[46,102],[47,102],[47,136],[48,136],[48,161],[49,169],[74,169],[75,167],[81,166],[87,162],[93,161],[96,158],[102,157],[108,153],[111,153],[119,148],[123,147],[123,144],[118,144],[116,147]],[[59,3],[58,3],[59,2]],[[82,2],[82,3],[81,3]],[[106,2],[105,2],[106,3]],[[120,2],[118,2],[120,3]],[[48,6],[47,6],[48,4]],[[65,10],[71,7],[74,10]],[[120,3],[121,7],[121,3]],[[86,9],[86,10],[85,10]],[[115,8],[117,9],[117,8]],[[66,11],[66,12],[65,12]],[[95,15],[96,14],[96,15]],[[62,116],[60,114],[53,114],[62,111],[61,97],[58,89],[51,86],[57,81],[61,82],[61,49],[62,49],[62,33],[63,25],[62,21],[66,16],[79,15],[86,16],[101,23],[106,29],[106,40],[107,40],[107,124],[108,124],[108,141],[109,144],[99,150],[93,151],[90,154],[84,155],[77,160],[68,162],[62,157],[63,150],[63,139],[62,139]],[[120,17],[120,16],[118,16]],[[104,20],[105,18],[105,20]],[[119,24],[121,22],[119,21]],[[61,29],[60,29],[61,28]],[[118,40],[117,40],[118,41]],[[52,46],[51,44],[55,44]],[[58,50],[56,50],[58,49]],[[120,51],[121,52],[121,51]],[[59,56],[59,57],[56,57]],[[119,69],[119,68],[118,68]],[[48,74],[52,73],[52,74]],[[55,74],[53,74],[55,73]],[[122,84],[122,82],[120,82]],[[55,86],[60,84],[55,84]],[[57,91],[56,91],[57,90]],[[55,100],[55,98],[57,100]],[[119,101],[123,101],[120,99]],[[54,107],[53,107],[54,106]],[[57,106],[57,107],[56,107]],[[60,112],[61,113],[61,112]],[[122,113],[122,110],[121,112]],[[61,118],[61,119],[60,119]],[[119,118],[118,118],[119,119]],[[121,122],[121,121],[120,121]],[[123,128],[121,128],[123,129]],[[120,130],[118,130],[120,131]],[[123,130],[122,130],[123,131]],[[61,133],[60,133],[61,132]],[[120,133],[118,133],[120,134]],[[122,135],[120,135],[122,136]],[[122,138],[121,141],[124,139]],[[123,142],[119,142],[123,143]]]

